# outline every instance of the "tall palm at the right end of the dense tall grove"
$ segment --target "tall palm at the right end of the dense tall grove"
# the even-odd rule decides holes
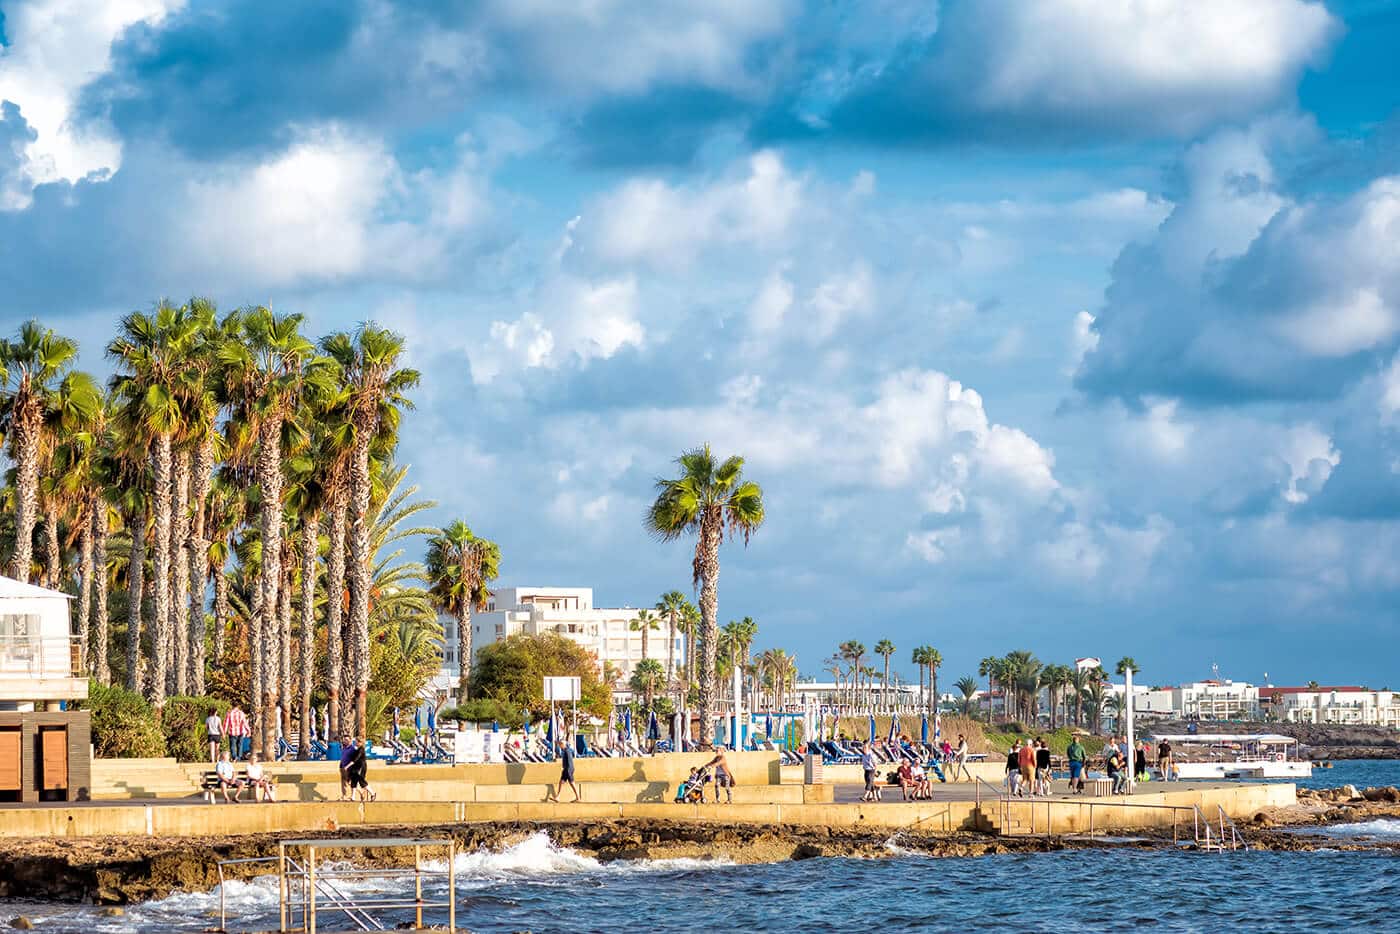
[[[365,692],[370,688],[370,451],[398,433],[399,414],[412,407],[407,391],[419,371],[400,368],[403,337],[374,323],[354,335],[330,335],[322,349],[340,367],[339,382],[354,433],[349,461],[349,584],[350,669],[354,682],[354,732],[365,731]],[[392,444],[388,445],[392,449]],[[469,660],[463,660],[469,668]]]

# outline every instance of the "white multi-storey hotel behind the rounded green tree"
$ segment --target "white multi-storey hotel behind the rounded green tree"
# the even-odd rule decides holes
[[[619,672],[615,688],[626,689],[633,669],[641,661],[641,632],[631,632],[637,619],[636,606],[595,608],[591,587],[501,587],[491,597],[484,612],[472,615],[472,648],[480,650],[511,636],[557,633],[578,643],[598,658],[602,674],[605,662]],[[442,616],[442,669],[435,679],[438,690],[456,690],[459,660],[456,658],[456,620]],[[666,665],[666,634],[669,626],[659,620],[659,629],[647,633],[647,658]],[[676,633],[676,671],[685,665],[685,636]]]

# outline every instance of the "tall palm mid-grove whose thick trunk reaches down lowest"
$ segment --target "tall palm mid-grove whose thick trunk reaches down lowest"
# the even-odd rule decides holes
[[[316,360],[315,344],[301,333],[301,315],[277,315],[265,307],[237,312],[238,340],[218,344],[218,360],[237,417],[255,438],[253,480],[258,487],[258,536],[262,566],[256,598],[253,669],[255,732],[263,755],[276,751],[276,690],[283,630],[283,430],[307,392],[322,391],[328,371]],[[260,655],[260,665],[256,658]],[[290,707],[290,699],[286,699]]]

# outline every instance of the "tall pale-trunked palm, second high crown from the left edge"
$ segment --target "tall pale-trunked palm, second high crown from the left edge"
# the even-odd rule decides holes
[[[171,630],[171,522],[174,513],[174,440],[181,428],[179,379],[182,358],[197,333],[188,309],[161,301],[151,314],[122,318],[118,336],[108,344],[116,361],[112,395],[129,441],[151,459],[151,668],[147,696],[160,711],[165,706]]]

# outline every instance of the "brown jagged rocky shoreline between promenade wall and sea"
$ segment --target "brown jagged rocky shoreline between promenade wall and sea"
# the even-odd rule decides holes
[[[1387,849],[1400,854],[1400,840],[1343,842],[1308,835],[1306,826],[1400,818],[1397,788],[1301,790],[1298,804],[1261,811],[1240,822],[1252,847],[1270,850]],[[452,836],[463,851],[501,850],[535,833],[546,833],[599,861],[713,858],[732,863],[776,863],[815,857],[879,858],[899,853],[931,857],[977,857],[1065,849],[1170,846],[1169,837],[1142,833],[1116,842],[1082,837],[997,837],[981,833],[836,829],[823,826],[755,826],[676,821],[510,822],[442,826],[365,828],[367,837]],[[28,839],[0,843],[0,898],[126,905],[165,898],[176,891],[207,891],[218,884],[220,860],[273,856],[284,835],[213,839],[90,837]],[[346,832],[305,835],[344,839]],[[374,865],[402,864],[399,850],[364,850]],[[228,867],[230,878],[266,872],[267,865]]]

